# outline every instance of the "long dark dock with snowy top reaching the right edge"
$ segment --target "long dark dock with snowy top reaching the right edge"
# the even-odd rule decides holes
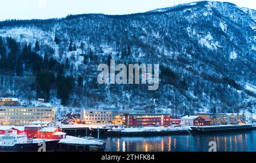
[[[211,133],[211,132],[254,130],[256,128],[256,124],[220,125],[220,126],[191,126],[191,128],[192,128],[192,132],[195,134],[204,134],[204,133]]]

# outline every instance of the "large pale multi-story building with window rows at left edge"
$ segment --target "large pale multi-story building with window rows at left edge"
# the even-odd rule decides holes
[[[0,107],[0,125],[24,126],[34,121],[55,122],[55,109],[24,106]]]

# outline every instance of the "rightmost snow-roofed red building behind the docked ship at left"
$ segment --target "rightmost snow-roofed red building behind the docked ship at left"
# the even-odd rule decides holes
[[[42,132],[42,136],[41,136]],[[55,127],[44,127],[42,128],[42,131],[38,131],[38,139],[65,139],[66,138],[66,133],[61,132],[60,128],[55,128]]]

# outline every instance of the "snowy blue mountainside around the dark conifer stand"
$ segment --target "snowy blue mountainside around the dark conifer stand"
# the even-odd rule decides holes
[[[198,111],[254,113],[255,20],[254,10],[204,1],[132,15],[0,22],[0,36],[33,48],[38,41],[38,53],[44,57],[47,52],[60,63],[68,58],[65,75],[83,79],[80,86],[75,81],[69,106],[161,109],[177,116]],[[100,85],[97,66],[110,58],[125,64],[160,64],[168,72],[160,75],[157,91],[142,84]],[[35,75],[24,74],[1,75],[0,95],[36,98],[31,86]],[[56,89],[51,89],[51,100],[58,97]]]

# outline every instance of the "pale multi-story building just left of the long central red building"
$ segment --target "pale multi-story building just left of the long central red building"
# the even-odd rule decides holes
[[[88,109],[81,111],[81,121],[85,124],[93,123],[114,123],[119,124],[123,122],[123,114],[128,113],[146,113],[145,110],[119,110],[119,109],[103,109],[95,110]]]

